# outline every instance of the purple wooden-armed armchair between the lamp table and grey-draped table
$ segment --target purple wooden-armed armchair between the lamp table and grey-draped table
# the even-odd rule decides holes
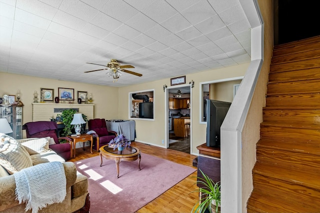
[[[113,138],[117,136],[116,132],[108,131],[106,128],[105,119],[95,118],[88,121],[88,129],[93,130],[92,149],[98,151],[100,147],[107,145]]]

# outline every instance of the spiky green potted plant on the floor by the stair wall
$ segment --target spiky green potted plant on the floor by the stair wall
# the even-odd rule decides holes
[[[201,193],[200,200],[194,205],[191,213],[204,213],[208,209],[211,213],[220,213],[220,203],[221,203],[221,192],[220,192],[220,182],[214,183],[206,174],[199,170],[203,178],[197,177],[197,184],[203,185],[197,190],[192,192]]]

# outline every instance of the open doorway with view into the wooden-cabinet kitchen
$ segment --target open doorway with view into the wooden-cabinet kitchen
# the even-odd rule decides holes
[[[174,86],[166,89],[166,147],[191,153],[191,87]]]

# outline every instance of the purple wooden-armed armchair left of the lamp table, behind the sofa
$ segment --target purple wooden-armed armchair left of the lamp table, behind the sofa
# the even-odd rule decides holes
[[[55,144],[49,145],[56,154],[61,156],[64,160],[68,160],[71,157],[71,139],[67,137],[58,138],[56,136],[57,124],[53,121],[35,121],[28,122],[23,125],[23,129],[26,131],[27,138],[53,138]],[[68,143],[60,143],[59,140],[64,139]]]

